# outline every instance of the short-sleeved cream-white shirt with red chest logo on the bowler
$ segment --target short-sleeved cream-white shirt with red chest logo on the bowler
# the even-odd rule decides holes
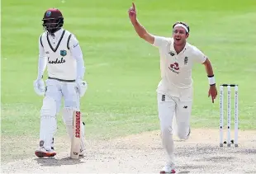
[[[192,66],[204,63],[206,55],[196,46],[187,43],[179,54],[173,45],[173,38],[154,36],[154,46],[159,48],[161,82],[157,92],[180,96],[181,89],[192,88]]]

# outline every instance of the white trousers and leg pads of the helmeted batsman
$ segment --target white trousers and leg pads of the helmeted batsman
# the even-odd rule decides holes
[[[64,124],[69,135],[72,135],[73,109],[79,110],[80,97],[75,82],[61,82],[55,79],[46,80],[45,97],[40,111],[40,147],[50,149],[53,146],[57,130],[56,115],[64,98]]]

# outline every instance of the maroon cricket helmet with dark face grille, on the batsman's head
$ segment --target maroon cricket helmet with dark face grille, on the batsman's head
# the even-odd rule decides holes
[[[56,31],[59,31],[64,25],[64,17],[62,13],[56,8],[50,8],[45,12],[43,18],[43,24],[45,31],[48,31],[53,35]]]

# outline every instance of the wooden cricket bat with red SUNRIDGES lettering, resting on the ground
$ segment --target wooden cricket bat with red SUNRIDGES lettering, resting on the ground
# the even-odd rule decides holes
[[[70,158],[78,159],[81,148],[81,112],[73,111],[73,137],[71,140]]]

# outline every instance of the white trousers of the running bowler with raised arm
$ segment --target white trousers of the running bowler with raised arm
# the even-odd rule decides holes
[[[190,133],[192,100],[191,97],[187,99],[188,101],[181,101],[181,98],[160,93],[157,96],[163,148],[167,153],[168,162],[173,164],[173,134],[177,134],[179,139],[187,139]]]

